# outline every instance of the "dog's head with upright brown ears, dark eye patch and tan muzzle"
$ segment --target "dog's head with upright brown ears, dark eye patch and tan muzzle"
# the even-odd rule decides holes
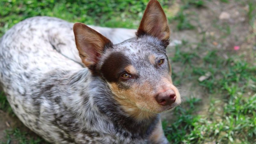
[[[108,83],[128,114],[149,116],[180,104],[166,56],[170,30],[156,0],[148,3],[135,38],[114,45],[82,23],[74,25],[74,33],[82,62]]]

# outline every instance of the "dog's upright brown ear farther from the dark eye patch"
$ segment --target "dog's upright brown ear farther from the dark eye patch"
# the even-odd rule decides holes
[[[170,30],[164,10],[157,0],[148,2],[136,36],[140,37],[145,34],[155,36],[164,43],[169,44]]]

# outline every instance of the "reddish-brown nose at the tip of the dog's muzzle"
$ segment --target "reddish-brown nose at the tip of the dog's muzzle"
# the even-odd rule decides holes
[[[175,102],[176,94],[173,90],[167,90],[165,92],[158,93],[155,98],[158,104],[167,106]]]

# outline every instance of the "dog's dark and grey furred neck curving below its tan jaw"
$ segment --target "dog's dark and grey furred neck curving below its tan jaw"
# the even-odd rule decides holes
[[[125,128],[131,133],[146,136],[155,128],[160,118],[158,114],[142,111],[129,103],[119,103],[108,84],[100,76],[93,77],[90,86],[90,89],[94,89],[93,101],[99,111],[111,119],[115,128],[120,129],[118,131]],[[130,111],[124,110],[129,108]]]

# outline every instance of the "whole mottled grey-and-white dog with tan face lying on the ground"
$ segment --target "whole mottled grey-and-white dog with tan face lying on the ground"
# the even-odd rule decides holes
[[[169,36],[156,0],[136,35],[29,18],[0,40],[0,84],[22,123],[51,143],[165,144],[159,113],[181,103]]]

